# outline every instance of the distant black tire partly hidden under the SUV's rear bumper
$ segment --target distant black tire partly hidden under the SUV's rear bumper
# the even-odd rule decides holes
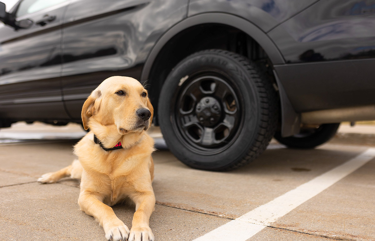
[[[323,124],[318,128],[306,129],[300,134],[290,137],[281,137],[281,133],[276,132],[275,139],[288,148],[312,149],[328,142],[333,136],[335,136],[339,125],[340,123]]]

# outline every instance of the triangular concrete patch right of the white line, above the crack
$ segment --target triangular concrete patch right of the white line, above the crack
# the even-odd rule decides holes
[[[273,226],[339,240],[374,240],[374,170],[375,160],[372,160]]]

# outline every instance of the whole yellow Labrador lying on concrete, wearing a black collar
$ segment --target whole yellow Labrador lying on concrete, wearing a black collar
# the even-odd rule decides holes
[[[99,221],[108,240],[154,240],[148,224],[155,206],[154,142],[145,133],[152,116],[147,91],[137,80],[107,78],[83,105],[83,126],[90,132],[74,146],[78,160],[38,179],[52,183],[66,176],[81,178],[78,204]],[[125,198],[135,203],[130,231],[110,207]]]

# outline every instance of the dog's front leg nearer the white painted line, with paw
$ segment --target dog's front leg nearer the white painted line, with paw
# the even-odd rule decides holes
[[[136,193],[130,197],[135,202],[135,213],[129,241],[153,241],[154,235],[149,226],[151,213],[155,208],[154,192]]]

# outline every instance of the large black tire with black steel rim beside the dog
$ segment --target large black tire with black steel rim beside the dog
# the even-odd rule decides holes
[[[254,63],[236,53],[204,50],[175,66],[159,98],[160,128],[187,166],[226,171],[257,158],[278,123],[278,95]]]

